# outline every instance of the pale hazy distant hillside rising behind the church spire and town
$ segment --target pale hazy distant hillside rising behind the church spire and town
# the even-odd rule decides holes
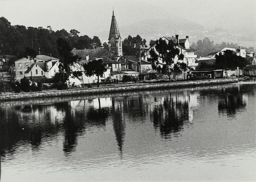
[[[232,26],[233,25],[233,26]],[[179,37],[185,38],[187,35],[190,37],[190,42],[196,42],[204,37],[214,40],[214,43],[237,43],[241,46],[253,46],[256,48],[256,29],[255,22],[250,25],[244,26],[242,23],[236,23],[231,19],[228,26],[225,22],[220,21],[218,25],[205,27],[200,22],[196,23],[188,21],[183,18],[170,18],[170,19],[149,19],[147,21],[138,21],[132,25],[119,27],[122,39],[128,35],[135,36],[139,34],[142,38],[147,40],[158,39],[161,36],[172,36],[178,34]],[[96,32],[100,40],[107,41],[109,30],[104,32]]]

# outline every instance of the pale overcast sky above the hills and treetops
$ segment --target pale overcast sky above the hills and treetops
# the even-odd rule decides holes
[[[0,16],[12,25],[76,29],[93,36],[109,31],[113,7],[119,27],[175,16],[205,27],[256,21],[256,0],[0,0]]]

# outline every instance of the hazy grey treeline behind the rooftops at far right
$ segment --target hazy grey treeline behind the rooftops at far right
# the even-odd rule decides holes
[[[217,53],[219,50],[221,50],[224,47],[230,47],[230,48],[239,48],[238,44],[234,43],[226,43],[222,42],[221,44],[214,44],[214,41],[210,40],[208,37],[205,37],[203,40],[198,40],[196,43],[192,43],[190,45],[191,48],[196,49],[196,55],[198,57],[206,57],[207,54],[215,52]],[[254,50],[253,47],[244,47],[240,46],[241,49],[246,49],[246,51]]]

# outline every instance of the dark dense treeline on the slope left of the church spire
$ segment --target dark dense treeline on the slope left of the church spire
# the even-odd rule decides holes
[[[99,37],[93,38],[83,35],[79,36],[77,30],[65,29],[53,31],[51,26],[25,27],[23,25],[11,25],[4,17],[0,17],[0,55],[12,55],[22,57],[26,47],[34,48],[40,54],[58,57],[56,41],[58,37],[68,40],[70,46],[75,49],[91,49],[101,47]]]

